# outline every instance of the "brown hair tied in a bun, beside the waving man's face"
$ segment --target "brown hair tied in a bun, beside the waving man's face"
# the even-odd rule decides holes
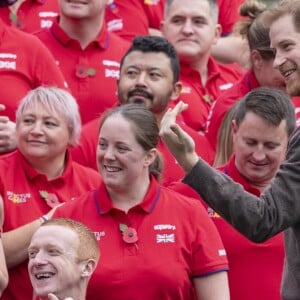
[[[263,22],[266,6],[255,0],[248,0],[240,7],[240,15],[245,17],[237,22],[234,31],[246,38],[250,50],[259,51],[264,60],[274,59],[270,48],[269,27]]]

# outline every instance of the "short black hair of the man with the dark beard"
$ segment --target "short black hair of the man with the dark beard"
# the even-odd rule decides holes
[[[170,59],[173,73],[173,83],[179,80],[180,65],[175,48],[165,38],[160,36],[137,36],[132,41],[130,48],[121,59],[120,69],[122,69],[124,60],[133,51],[141,51],[144,53],[156,52],[165,53]]]

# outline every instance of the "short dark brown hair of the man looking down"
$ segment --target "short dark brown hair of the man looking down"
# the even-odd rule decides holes
[[[288,136],[295,129],[294,105],[291,98],[282,90],[270,87],[260,87],[251,90],[238,103],[235,115],[235,121],[238,126],[249,111],[275,126],[278,126],[282,120],[286,120]]]

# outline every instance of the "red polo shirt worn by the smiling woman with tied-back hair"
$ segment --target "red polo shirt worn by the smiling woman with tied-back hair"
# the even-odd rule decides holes
[[[54,217],[84,223],[99,240],[101,263],[89,282],[89,300],[99,295],[101,300],[193,300],[193,277],[228,268],[221,239],[201,204],[159,186],[153,177],[143,201],[127,213],[113,206],[101,184],[59,207]],[[138,241],[126,243],[120,224],[134,228]]]

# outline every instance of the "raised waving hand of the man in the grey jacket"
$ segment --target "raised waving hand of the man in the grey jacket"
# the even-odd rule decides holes
[[[189,172],[198,161],[193,139],[176,124],[176,117],[186,110],[187,104],[180,101],[173,109],[169,109],[160,123],[159,135],[174,155],[181,167]]]

